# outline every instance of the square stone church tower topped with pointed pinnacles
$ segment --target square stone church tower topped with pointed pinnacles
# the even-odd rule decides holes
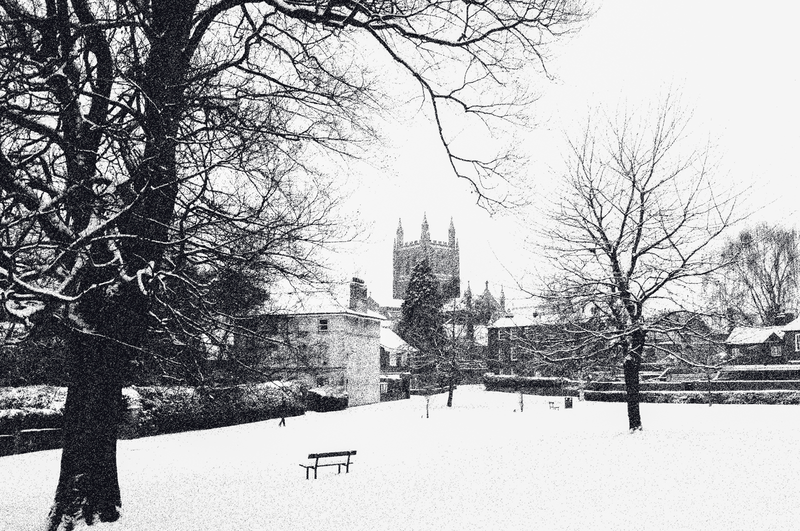
[[[398,223],[397,237],[394,239],[392,264],[394,282],[392,293],[396,299],[406,298],[406,289],[411,279],[411,271],[419,262],[428,261],[430,270],[439,281],[439,289],[445,298],[461,297],[460,268],[458,263],[458,240],[455,239],[455,226],[450,218],[447,242],[430,239],[427,215],[422,218],[422,234],[416,242],[403,242],[402,220]]]

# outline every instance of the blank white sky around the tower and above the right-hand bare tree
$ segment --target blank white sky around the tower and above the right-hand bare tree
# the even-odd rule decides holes
[[[671,86],[694,109],[692,130],[716,139],[722,172],[749,189],[750,222],[800,225],[798,15],[794,2],[598,2],[582,31],[553,47],[547,66],[556,81],[536,80],[541,126],[524,137],[531,159],[522,177],[546,192],[562,161],[565,130],[593,107],[654,102]],[[348,204],[371,230],[339,258],[342,276],[358,273],[376,300],[389,303],[398,218],[406,241],[418,239],[423,213],[431,238],[446,240],[452,216],[462,290],[470,281],[480,291],[488,280],[495,293],[504,285],[513,298],[515,282],[524,283],[537,264],[520,249],[525,228],[475,206],[466,183],[454,178],[434,126],[416,110],[402,108],[406,115],[382,130],[386,144],[372,146],[366,163],[347,169],[354,190]]]

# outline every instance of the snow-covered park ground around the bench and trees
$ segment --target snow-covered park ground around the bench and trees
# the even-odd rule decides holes
[[[119,441],[98,531],[800,529],[800,408],[626,406],[482,390]],[[550,410],[556,400],[561,409]],[[308,453],[356,449],[349,474]],[[0,529],[38,529],[60,450],[0,457]]]

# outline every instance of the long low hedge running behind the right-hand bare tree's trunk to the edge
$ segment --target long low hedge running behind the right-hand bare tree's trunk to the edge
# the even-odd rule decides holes
[[[585,391],[584,400],[601,402],[624,402],[625,391]],[[772,391],[642,391],[639,401],[650,404],[768,404],[798,405],[800,392]]]

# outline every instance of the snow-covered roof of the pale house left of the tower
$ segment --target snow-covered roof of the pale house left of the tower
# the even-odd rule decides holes
[[[382,314],[367,309],[364,304],[350,309],[350,282],[335,283],[319,289],[270,293],[270,300],[266,301],[261,311],[283,315],[349,313],[360,317],[386,319]]]

